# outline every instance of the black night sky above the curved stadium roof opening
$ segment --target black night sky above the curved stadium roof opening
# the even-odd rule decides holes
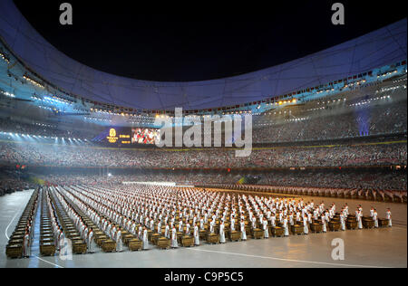
[[[72,26],[59,24],[63,2],[73,5]],[[406,16],[403,2],[393,0],[84,2],[15,0],[61,52],[100,71],[150,81],[201,81],[257,71]],[[345,5],[345,26],[331,24],[335,2]]]

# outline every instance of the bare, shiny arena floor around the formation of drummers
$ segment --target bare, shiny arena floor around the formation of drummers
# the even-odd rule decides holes
[[[371,206],[380,217],[391,207],[393,228],[309,234],[288,238],[248,240],[218,245],[203,244],[194,248],[143,252],[73,255],[63,261],[58,256],[40,257],[33,249],[30,259],[7,259],[5,245],[33,191],[0,197],[0,267],[176,267],[176,268],[269,268],[269,267],[407,267],[407,205],[348,200],[350,210],[361,204],[364,213]],[[305,197],[325,205],[344,205],[344,199]],[[334,261],[331,245],[335,238],[345,242],[345,260]]]

